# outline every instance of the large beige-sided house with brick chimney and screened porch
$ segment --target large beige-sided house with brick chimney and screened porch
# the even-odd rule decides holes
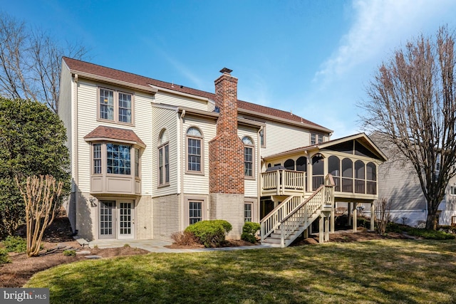
[[[229,237],[261,221],[263,238],[286,246],[315,219],[328,231],[335,198],[373,203],[385,157],[366,135],[331,140],[303,117],[238,100],[237,78],[220,72],[207,93],[63,58],[66,209],[79,236],[170,240],[225,219]],[[276,236],[285,221],[291,235]]]

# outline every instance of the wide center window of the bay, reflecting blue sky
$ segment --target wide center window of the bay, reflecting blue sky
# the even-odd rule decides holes
[[[108,174],[130,175],[130,146],[106,144]]]

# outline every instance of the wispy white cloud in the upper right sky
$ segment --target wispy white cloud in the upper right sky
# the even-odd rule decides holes
[[[385,56],[409,38],[440,26],[442,14],[455,1],[353,0],[353,25],[340,46],[317,71],[314,81],[325,84],[343,78],[362,63]]]

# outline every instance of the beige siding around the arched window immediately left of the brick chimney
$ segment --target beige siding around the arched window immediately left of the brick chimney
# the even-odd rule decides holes
[[[182,127],[181,147],[182,147],[182,172],[187,168],[187,150],[185,146],[185,133],[189,127],[197,127],[204,136],[202,164],[204,174],[184,173],[184,193],[185,194],[209,194],[209,141],[215,137],[216,126],[215,120],[204,119],[186,115]]]

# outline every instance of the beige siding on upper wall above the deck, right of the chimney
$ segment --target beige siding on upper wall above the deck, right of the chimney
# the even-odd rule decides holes
[[[309,130],[279,122],[266,121],[264,135],[266,148],[261,148],[261,157],[310,145]]]

